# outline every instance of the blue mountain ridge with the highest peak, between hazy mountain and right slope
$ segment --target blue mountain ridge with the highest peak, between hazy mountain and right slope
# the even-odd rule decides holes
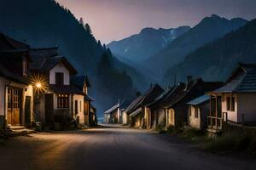
[[[145,63],[145,66],[154,69],[158,77],[161,78],[167,69],[183,61],[184,57],[196,48],[203,46],[207,42],[212,42],[219,37],[223,37],[224,34],[234,31],[246,23],[247,20],[239,18],[227,20],[216,14],[212,14],[211,17],[204,18],[198,25],[194,26],[182,36],[177,37],[177,39],[160,51],[160,53],[151,56]],[[158,67],[160,69],[155,69]]]

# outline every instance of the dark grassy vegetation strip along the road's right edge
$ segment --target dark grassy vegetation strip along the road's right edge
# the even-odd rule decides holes
[[[256,133],[241,131],[241,133],[226,132],[217,137],[209,137],[207,132],[189,127],[159,128],[159,133],[176,135],[178,138],[199,144],[201,150],[214,154],[228,155],[243,153],[256,156]]]

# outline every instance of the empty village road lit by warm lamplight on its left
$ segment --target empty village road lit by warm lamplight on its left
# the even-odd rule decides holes
[[[36,133],[0,144],[0,169],[256,169],[256,162],[216,156],[143,130],[98,127]]]

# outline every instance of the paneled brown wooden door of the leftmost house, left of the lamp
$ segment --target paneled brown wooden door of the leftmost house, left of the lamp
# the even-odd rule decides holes
[[[20,106],[21,106],[21,89],[8,89],[8,115],[7,122],[9,125],[20,125]]]

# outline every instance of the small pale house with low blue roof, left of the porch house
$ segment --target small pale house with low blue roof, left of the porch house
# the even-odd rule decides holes
[[[196,129],[207,129],[207,116],[210,111],[210,96],[205,94],[187,103],[188,125]]]

